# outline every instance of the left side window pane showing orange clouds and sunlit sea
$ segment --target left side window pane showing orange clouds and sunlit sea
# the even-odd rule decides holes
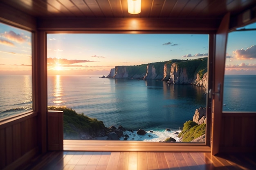
[[[0,23],[0,119],[32,109],[31,32]]]

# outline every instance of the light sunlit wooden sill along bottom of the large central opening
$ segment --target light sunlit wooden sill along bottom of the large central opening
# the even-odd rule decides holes
[[[63,140],[65,151],[211,152],[204,143]]]

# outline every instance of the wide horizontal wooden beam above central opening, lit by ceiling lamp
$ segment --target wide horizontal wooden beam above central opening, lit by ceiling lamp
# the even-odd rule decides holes
[[[130,33],[215,33],[220,19],[204,18],[38,18],[44,31],[124,31]]]

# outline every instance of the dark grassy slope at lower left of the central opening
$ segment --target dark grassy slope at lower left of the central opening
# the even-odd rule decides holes
[[[97,132],[102,132],[102,130],[105,129],[103,121],[98,121],[97,119],[92,119],[83,114],[78,114],[71,108],[66,108],[65,106],[49,106],[48,110],[63,111],[64,136],[66,135],[71,138],[80,139],[81,134],[88,134],[93,137],[97,135]]]

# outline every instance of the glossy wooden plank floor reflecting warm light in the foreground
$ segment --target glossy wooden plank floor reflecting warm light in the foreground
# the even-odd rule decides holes
[[[48,152],[24,170],[256,170],[256,154],[209,152]]]

